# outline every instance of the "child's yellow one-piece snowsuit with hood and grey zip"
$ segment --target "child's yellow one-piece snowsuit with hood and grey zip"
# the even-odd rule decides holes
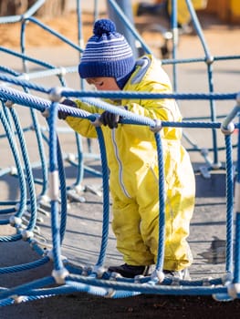
[[[170,93],[172,86],[161,64],[149,55],[137,62],[123,91]],[[103,111],[80,101],[77,103],[79,108],[90,113]],[[182,120],[173,99],[122,99],[119,105],[144,117]],[[96,129],[88,119],[68,117],[67,122],[82,136],[97,137]],[[159,179],[154,134],[149,127],[141,125],[101,128],[110,169],[112,229],[117,248],[130,265],[153,264],[157,258],[159,232]],[[188,153],[181,144],[182,130],[163,128],[161,135],[166,199],[163,269],[179,271],[193,262],[186,238],[193,215],[195,181]]]

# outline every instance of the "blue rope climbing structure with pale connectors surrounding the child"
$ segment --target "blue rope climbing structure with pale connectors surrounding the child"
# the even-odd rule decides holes
[[[98,1],[95,1],[95,9],[97,10]],[[127,28],[131,36],[137,39],[138,45],[141,43],[142,49],[150,53],[151,49],[146,46],[137,30],[130,23],[130,19],[124,15],[126,7],[129,3],[122,2],[123,8],[121,10],[117,2],[110,0],[111,10],[114,15],[120,17],[120,22]],[[49,29],[40,21],[33,17],[36,10],[44,4],[44,1],[37,1],[24,16],[3,17],[0,18],[1,23],[22,23],[21,30],[21,53],[16,53],[5,47],[0,47],[2,53],[11,55],[22,61],[23,72],[18,72],[15,69],[1,66],[0,70],[0,99],[2,109],[0,118],[2,122],[1,138],[7,140],[10,149],[9,154],[15,161],[15,167],[8,166],[8,159],[6,157],[6,168],[0,170],[1,177],[5,178],[8,174],[13,176],[16,180],[15,187],[18,187],[19,193],[16,194],[15,201],[1,201],[1,227],[5,229],[9,226],[15,230],[13,234],[2,235],[0,241],[15,245],[18,241],[28,242],[29,245],[37,252],[39,258],[35,262],[27,262],[24,264],[5,266],[0,268],[0,274],[12,273],[15,276],[19,272],[27,272],[33,268],[40,268],[46,263],[52,262],[51,275],[38,278],[35,281],[29,281],[19,286],[12,286],[10,288],[0,288],[0,304],[13,304],[35,300],[47,296],[52,296],[58,293],[72,293],[72,292],[88,292],[102,295],[105,297],[120,298],[133,296],[139,293],[159,293],[159,294],[204,294],[214,295],[217,300],[232,300],[239,298],[239,283],[240,283],[240,242],[239,242],[239,211],[240,211],[240,189],[239,189],[239,123],[237,116],[240,109],[240,95],[238,92],[234,93],[215,93],[213,86],[214,77],[214,62],[222,60],[235,60],[240,56],[235,57],[212,57],[208,46],[204,41],[203,31],[199,24],[197,15],[193,10],[190,1],[186,1],[190,13],[193,18],[193,26],[195,27],[197,36],[203,46],[203,58],[191,59],[177,59],[177,40],[175,36],[175,15],[172,11],[172,58],[162,60],[162,64],[172,66],[172,78],[174,94],[166,95],[151,95],[151,98],[176,98],[182,100],[204,100],[209,102],[210,114],[205,118],[184,118],[183,123],[162,122],[161,126],[181,126],[184,129],[202,129],[210,130],[212,132],[212,146],[210,148],[202,148],[193,143],[191,136],[184,134],[184,138],[190,145],[190,152],[198,152],[203,157],[203,166],[197,167],[196,172],[200,172],[205,179],[211,178],[214,170],[223,170],[225,174],[225,212],[226,212],[226,253],[224,260],[224,276],[215,278],[197,278],[192,281],[176,281],[175,279],[164,278],[162,275],[162,261],[163,261],[163,238],[164,238],[164,190],[162,182],[160,184],[160,242],[158,262],[156,263],[156,270],[151,277],[138,277],[134,280],[126,278],[112,278],[105,269],[105,257],[107,246],[109,242],[109,223],[110,223],[110,199],[108,190],[108,169],[105,157],[104,143],[101,137],[100,128],[96,128],[99,135],[99,154],[91,149],[91,144],[87,141],[88,152],[82,149],[82,140],[66,128],[57,127],[57,109],[64,109],[68,114],[81,118],[89,118],[94,121],[92,115],[80,109],[71,109],[59,104],[60,98],[71,97],[81,98],[88,101],[99,108],[116,112],[110,105],[100,101],[98,98],[132,98],[136,94],[134,92],[93,92],[86,90],[84,83],[80,83],[81,89],[75,90],[68,88],[65,77],[69,73],[75,73],[77,76],[77,66],[74,67],[54,67],[44,61],[37,60],[34,57],[26,55],[25,34],[27,32],[26,23],[35,23],[54,36],[60,38],[63,42],[71,46],[80,55],[82,47],[72,43],[62,35],[57,34],[54,30]],[[173,1],[173,8],[176,1]],[[125,10],[124,10],[125,9]],[[98,12],[95,10],[95,15]],[[80,2],[77,1],[77,14],[79,22],[79,35],[81,34],[80,23]],[[113,15],[113,16],[114,16]],[[119,23],[120,23],[119,22]],[[78,41],[81,43],[81,40]],[[186,94],[178,93],[177,81],[177,67],[179,64],[186,63],[205,63],[208,76],[208,93],[200,94]],[[28,64],[43,67],[42,71],[32,71]],[[37,84],[36,79],[56,77],[59,82],[55,87]],[[136,96],[137,97],[137,96]],[[138,96],[139,98],[139,96]],[[142,94],[141,98],[150,98],[147,94]],[[227,100],[232,108],[225,116],[221,116],[222,120],[216,114],[215,101]],[[18,117],[18,109],[25,107],[30,112],[31,123],[27,127],[23,127],[25,121],[20,123]],[[21,111],[20,111],[21,112]],[[122,116],[123,123],[138,123],[141,125],[148,125],[155,135],[158,146],[160,176],[162,176],[162,147],[159,131],[161,127],[156,126],[150,118],[136,117],[128,111],[122,110],[118,114]],[[38,119],[38,115],[44,115],[42,120]],[[44,123],[44,124],[42,124]],[[26,142],[27,134],[35,133],[37,139],[37,162],[32,162],[29,159],[29,147],[32,148],[32,140],[30,144]],[[224,147],[218,146],[217,132],[221,131],[224,134]],[[232,142],[233,134],[238,131],[238,138],[235,143]],[[64,154],[61,151],[61,137],[57,135],[68,134],[74,137],[74,142],[77,145],[76,154]],[[44,143],[47,143],[47,151]],[[36,145],[35,145],[36,147]],[[234,149],[236,149],[237,157],[233,158]],[[225,165],[219,160],[219,151],[224,151]],[[213,153],[213,159],[210,159],[209,153]],[[6,153],[7,154],[7,153]],[[48,159],[48,160],[47,160]],[[99,160],[101,170],[93,170],[86,166],[86,159]],[[76,170],[76,180],[72,185],[66,184],[65,163],[68,162]],[[2,166],[2,165],[1,165]],[[35,175],[35,170],[40,171],[40,177]],[[96,196],[101,195],[103,198],[102,206],[102,233],[100,240],[100,249],[97,262],[90,264],[91,267],[78,266],[72,262],[68,262],[68,255],[62,256],[61,245],[65,241],[66,227],[68,222],[68,200],[84,202],[85,198],[82,192],[83,175],[88,172],[94,176],[102,178],[102,189],[89,188]],[[162,178],[160,178],[162,181]],[[235,196],[234,196],[235,185]],[[235,201],[235,203],[234,203]],[[88,202],[84,203],[88,205]],[[4,209],[4,207],[6,207]],[[48,211],[50,213],[48,213]],[[48,226],[51,229],[51,239],[46,243],[41,241],[40,229],[37,222],[41,221],[42,216],[45,216],[46,221],[49,221]],[[234,223],[235,221],[235,223]],[[235,230],[234,230],[235,226]],[[43,226],[44,227],[44,226]],[[41,228],[41,226],[40,226]],[[4,232],[3,232],[4,233]],[[235,243],[235,244],[234,244]],[[46,248],[47,247],[47,248]],[[81,256],[78,256],[81,259]],[[88,262],[87,262],[88,264]]]

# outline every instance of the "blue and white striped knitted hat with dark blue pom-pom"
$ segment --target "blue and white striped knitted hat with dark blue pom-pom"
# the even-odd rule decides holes
[[[78,66],[80,77],[115,77],[120,80],[133,70],[135,60],[125,37],[109,19],[96,21]]]

